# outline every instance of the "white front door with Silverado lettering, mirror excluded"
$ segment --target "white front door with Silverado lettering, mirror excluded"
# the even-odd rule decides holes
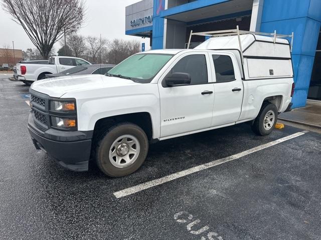
[[[165,76],[185,72],[191,84],[167,86],[158,82],[161,98],[161,137],[184,134],[211,126],[214,86],[209,55],[202,52],[185,53],[178,57]]]

